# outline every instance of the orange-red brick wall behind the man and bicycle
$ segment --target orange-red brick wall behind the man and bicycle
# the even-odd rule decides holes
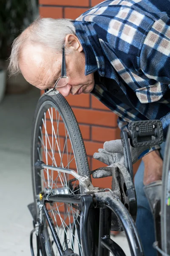
[[[40,15],[52,18],[76,19],[83,12],[102,2],[101,0],[39,0]],[[79,122],[85,148],[88,155],[90,169],[105,166],[93,159],[93,154],[98,148],[103,147],[107,140],[119,138],[120,131],[117,127],[117,116],[102,105],[94,96],[81,94],[66,97],[71,105],[77,121]],[[105,182],[104,182],[105,180]],[[94,185],[106,186],[111,179],[94,180]],[[108,186],[107,186],[108,187]]]

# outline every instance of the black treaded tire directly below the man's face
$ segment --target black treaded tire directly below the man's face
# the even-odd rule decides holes
[[[37,145],[38,143],[40,143],[39,136],[40,136],[40,127],[42,125],[42,116],[45,113],[45,111],[49,109],[50,106],[57,109],[68,131],[68,136],[74,151],[73,153],[75,157],[78,174],[82,176],[88,176],[91,179],[89,166],[88,166],[88,159],[87,159],[82,135],[79,130],[79,125],[77,123],[77,120],[74,116],[73,111],[71,110],[71,107],[68,105],[68,102],[60,93],[58,93],[55,96],[41,96],[37,103],[37,107],[34,114],[32,140],[31,140],[31,170],[32,170],[32,185],[33,185],[33,196],[34,196],[35,205],[37,205],[36,195],[38,195],[40,193],[40,190],[42,189],[42,180],[41,180],[40,174],[37,174],[37,172],[35,171],[34,164],[37,162],[37,160],[40,160],[39,159],[40,156],[37,150]],[[84,194],[84,189],[82,187],[80,187],[80,190],[81,190],[81,194]],[[45,232],[45,238],[46,240],[48,240],[47,237],[49,236],[49,234],[48,234],[47,227],[44,229],[44,232]],[[89,234],[89,241],[91,239],[90,236],[91,235]],[[47,250],[51,250],[49,249],[51,247],[51,242],[46,241],[46,243],[48,243],[46,246]],[[52,251],[51,254],[54,255],[54,251]]]

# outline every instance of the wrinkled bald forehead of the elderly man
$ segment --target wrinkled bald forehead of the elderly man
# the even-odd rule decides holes
[[[42,46],[28,45],[22,50],[20,70],[27,81],[35,86],[48,86],[61,73],[59,56]]]

